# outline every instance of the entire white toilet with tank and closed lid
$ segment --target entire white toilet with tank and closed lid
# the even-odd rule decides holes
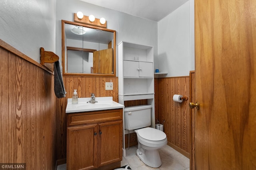
[[[158,149],[167,144],[167,137],[161,130],[151,125],[151,105],[124,108],[124,128],[134,130],[138,138],[137,156],[144,164],[153,168],[162,165]]]

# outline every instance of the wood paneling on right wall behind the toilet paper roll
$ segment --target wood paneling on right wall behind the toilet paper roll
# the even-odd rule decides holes
[[[162,124],[167,135],[168,145],[189,157],[190,153],[190,114],[189,100],[174,102],[174,94],[190,95],[189,76],[155,79],[156,119]]]

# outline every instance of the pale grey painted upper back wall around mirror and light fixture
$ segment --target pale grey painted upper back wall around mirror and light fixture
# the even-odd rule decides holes
[[[61,56],[61,20],[74,21],[74,13],[81,11],[85,16],[93,14],[95,18],[104,17],[107,21],[107,28],[116,30],[116,45],[121,41],[152,45],[154,46],[154,55],[157,57],[157,22],[102,8],[80,0],[57,0],[56,2],[57,55]],[[117,53],[116,57],[118,57]]]

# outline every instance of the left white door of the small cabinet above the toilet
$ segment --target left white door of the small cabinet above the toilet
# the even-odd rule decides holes
[[[124,61],[124,77],[139,77],[139,62]]]

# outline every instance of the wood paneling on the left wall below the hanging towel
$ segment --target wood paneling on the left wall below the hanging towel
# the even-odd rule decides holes
[[[39,49],[38,49],[39,55]],[[0,162],[52,170],[56,162],[54,76],[0,40]]]

